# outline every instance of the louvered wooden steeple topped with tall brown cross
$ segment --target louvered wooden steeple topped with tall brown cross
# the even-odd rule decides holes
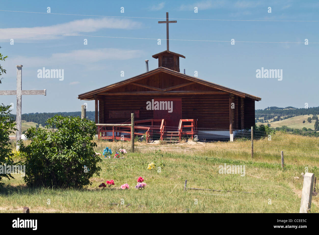
[[[159,59],[159,67],[165,67],[172,69],[174,71],[179,72],[179,58],[182,57],[185,59],[185,56],[177,54],[175,52],[169,51],[169,32],[168,32],[168,24],[169,23],[177,23],[176,20],[168,20],[168,12],[166,12],[166,21],[159,21],[159,24],[166,23],[166,44],[167,50],[159,52],[155,55],[152,55],[153,58]]]

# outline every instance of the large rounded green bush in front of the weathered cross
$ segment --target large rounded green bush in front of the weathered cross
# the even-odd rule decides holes
[[[102,161],[95,155],[92,141],[96,134],[93,121],[79,117],[54,116],[48,119],[46,129],[30,128],[26,137],[32,142],[20,152],[26,159],[28,186],[78,187],[92,184],[89,178],[99,176]],[[49,128],[52,130],[49,131]]]

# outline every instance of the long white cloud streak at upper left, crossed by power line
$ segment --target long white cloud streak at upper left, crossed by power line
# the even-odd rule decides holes
[[[129,19],[117,18],[98,18],[98,19],[84,19],[74,20],[67,23],[43,26],[43,27],[23,27],[23,28],[0,28],[0,40],[12,39],[26,39],[26,40],[48,40],[61,37],[60,35],[49,34],[83,34],[96,32],[105,28],[118,29],[134,29],[141,27],[141,23]],[[18,31],[26,33],[16,33],[7,31]],[[33,32],[33,33],[28,33]],[[34,33],[48,33],[48,34],[34,34]]]

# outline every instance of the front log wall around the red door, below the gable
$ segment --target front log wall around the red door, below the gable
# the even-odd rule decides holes
[[[165,95],[165,96],[104,96],[103,123],[128,121],[129,118],[109,118],[109,111],[139,110],[139,118],[135,120],[154,118],[153,110],[146,110],[146,102],[152,99],[182,99],[182,119],[198,119],[198,128],[229,129],[229,98],[228,94],[220,95]],[[100,107],[100,112],[101,111]],[[174,107],[173,107],[174,113]],[[104,119],[102,119],[104,116]],[[236,115],[237,117],[237,115]],[[102,123],[102,122],[100,122]],[[238,125],[238,121],[236,121]]]

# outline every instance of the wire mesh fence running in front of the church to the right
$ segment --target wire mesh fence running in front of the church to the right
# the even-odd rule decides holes
[[[180,150],[180,145],[191,145],[183,151],[190,155],[264,161],[281,164],[284,151],[286,164],[319,164],[319,138],[289,134],[283,131],[209,129],[196,127],[135,126],[135,140],[163,145],[167,152]],[[99,138],[115,141],[130,140],[130,126],[99,127]],[[231,141],[233,140],[233,141]],[[174,145],[174,143],[179,143]],[[253,155],[252,155],[253,152]]]

